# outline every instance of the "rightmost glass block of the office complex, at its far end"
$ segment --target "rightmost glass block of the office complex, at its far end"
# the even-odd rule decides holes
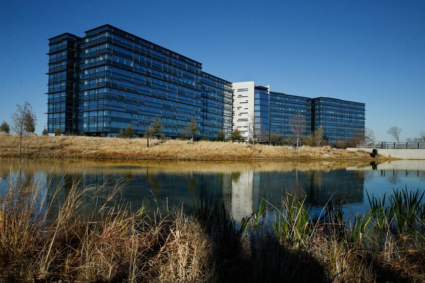
[[[322,126],[330,144],[365,133],[365,103],[317,97],[311,100],[311,109],[312,130]]]

